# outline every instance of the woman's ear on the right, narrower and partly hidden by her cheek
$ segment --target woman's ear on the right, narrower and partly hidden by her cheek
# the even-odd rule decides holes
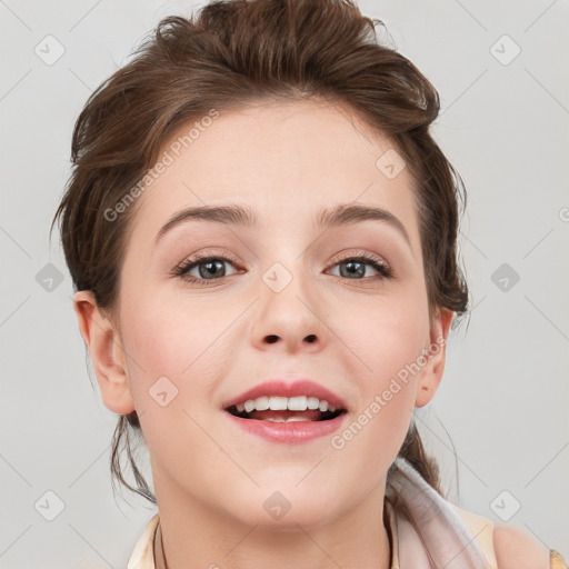
[[[418,385],[416,407],[426,406],[439,388],[445,371],[447,338],[453,316],[455,312],[451,310],[439,308],[433,317],[429,332],[429,346],[423,352],[427,363],[422,369]]]

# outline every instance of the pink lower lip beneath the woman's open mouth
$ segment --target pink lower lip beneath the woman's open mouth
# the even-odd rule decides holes
[[[342,413],[328,421],[274,422],[258,419],[241,419],[228,411],[223,412],[237,427],[240,427],[247,432],[262,437],[271,442],[286,442],[289,445],[298,445],[318,437],[331,435],[340,428],[348,416],[348,413]]]

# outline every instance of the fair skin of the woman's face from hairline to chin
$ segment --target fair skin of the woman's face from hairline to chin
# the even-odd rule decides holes
[[[412,410],[442,373],[451,315],[429,328],[410,173],[387,139],[329,104],[263,103],[201,124],[187,148],[178,137],[192,124],[174,133],[162,149],[172,163],[136,204],[118,338],[132,400],[101,385],[102,396],[138,411],[159,503],[251,526],[273,522],[276,503],[290,507],[279,523],[322,523],[382,496]],[[318,223],[356,204],[398,222]],[[157,237],[187,208],[221,206],[257,223],[187,218]],[[212,262],[173,276],[197,254]],[[337,430],[277,442],[238,427],[223,403],[271,379],[341,398]]]

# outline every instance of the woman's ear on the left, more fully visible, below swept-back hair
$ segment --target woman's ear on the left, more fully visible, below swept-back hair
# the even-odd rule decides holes
[[[118,330],[101,312],[90,290],[74,293],[73,308],[81,336],[91,355],[104,406],[119,415],[133,411],[134,401]]]

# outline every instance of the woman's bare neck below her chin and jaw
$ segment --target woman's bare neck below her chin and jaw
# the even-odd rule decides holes
[[[156,569],[389,569],[391,565],[383,519],[385,487],[375,488],[336,519],[277,527],[249,526],[227,512],[208,509],[187,493],[180,500],[169,492],[159,492],[158,487],[156,490],[160,511],[154,539]]]

